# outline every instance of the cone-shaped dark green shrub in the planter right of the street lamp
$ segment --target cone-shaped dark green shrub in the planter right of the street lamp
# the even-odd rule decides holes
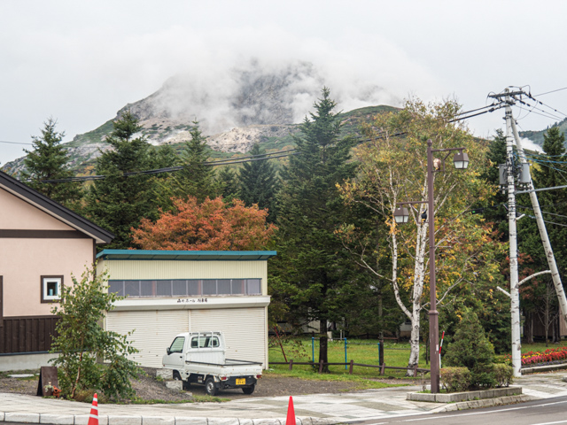
[[[471,387],[496,386],[492,367],[494,347],[486,337],[476,313],[471,310],[462,313],[453,341],[444,358],[447,366],[467,367],[470,370]]]

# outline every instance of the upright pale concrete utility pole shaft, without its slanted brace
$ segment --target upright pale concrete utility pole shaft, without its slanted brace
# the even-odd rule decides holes
[[[508,226],[509,226],[509,261],[510,261],[510,311],[512,316],[512,367],[514,376],[521,376],[522,344],[520,340],[520,294],[517,285],[517,227],[516,194],[514,193],[514,150],[512,137],[512,107],[510,97],[506,97],[506,153],[508,172]]]

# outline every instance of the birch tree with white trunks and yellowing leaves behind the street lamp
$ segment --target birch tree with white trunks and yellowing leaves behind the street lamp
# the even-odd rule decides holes
[[[434,174],[438,305],[458,285],[474,284],[479,274],[490,278],[498,268],[491,261],[493,250],[486,248],[493,243],[490,228],[468,212],[473,202],[491,190],[479,178],[479,170],[486,166],[485,146],[461,124],[450,122],[458,111],[453,101],[423,104],[410,100],[400,112],[378,115],[365,129],[370,141],[356,151],[360,164],[356,178],[340,187],[347,203],[366,205],[389,227],[383,243],[389,248],[390,270],[376,267],[382,247],[375,239],[349,224],[339,233],[357,264],[391,283],[397,304],[411,321],[408,367],[419,362],[420,316],[429,309],[427,139],[433,140],[433,149],[464,147],[470,157],[466,171],[455,170],[451,152],[444,167],[437,161],[439,171]],[[438,155],[443,159],[447,153]],[[408,224],[397,225],[394,208],[409,201],[416,204],[408,208]]]

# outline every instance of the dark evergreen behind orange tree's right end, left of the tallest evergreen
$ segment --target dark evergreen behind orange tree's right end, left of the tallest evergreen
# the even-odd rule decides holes
[[[251,156],[260,156],[266,150],[254,143],[248,152]],[[276,219],[276,167],[268,159],[245,162],[238,172],[240,199],[245,205],[258,204],[262,210],[268,209],[268,221]]]

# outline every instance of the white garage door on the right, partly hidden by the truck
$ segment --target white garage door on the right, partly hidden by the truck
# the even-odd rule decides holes
[[[266,362],[266,308],[191,310],[191,332],[220,330],[227,359]]]

